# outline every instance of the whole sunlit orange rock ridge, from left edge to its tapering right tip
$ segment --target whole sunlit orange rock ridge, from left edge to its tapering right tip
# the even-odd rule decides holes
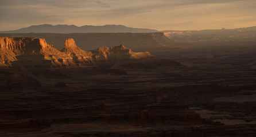
[[[26,62],[28,65],[32,65],[32,61],[34,63],[51,61],[52,66],[76,66],[152,57],[148,52],[134,53],[123,45],[84,51],[76,46],[73,39],[66,39],[64,49],[59,51],[53,45],[48,45],[42,38],[8,37],[0,37],[0,53],[3,66],[11,66],[15,61]]]

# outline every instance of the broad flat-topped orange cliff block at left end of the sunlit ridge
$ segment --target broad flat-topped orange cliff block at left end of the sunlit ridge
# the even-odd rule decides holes
[[[58,53],[60,51],[48,45],[45,39],[0,37],[0,66],[10,66],[11,62],[18,60],[18,57],[37,60]]]

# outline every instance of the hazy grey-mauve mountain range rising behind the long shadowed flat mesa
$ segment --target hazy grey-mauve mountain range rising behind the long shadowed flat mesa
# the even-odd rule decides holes
[[[154,33],[158,30],[126,27],[123,25],[75,26],[75,25],[32,25],[18,30],[0,33]]]

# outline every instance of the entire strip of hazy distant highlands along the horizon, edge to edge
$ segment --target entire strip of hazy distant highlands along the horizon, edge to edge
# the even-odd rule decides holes
[[[190,30],[192,33],[216,33],[218,31],[248,31],[248,30],[256,30],[256,26],[253,27],[243,27],[238,29],[216,29],[216,30]],[[0,33],[184,33],[185,31],[180,30],[154,30],[154,29],[141,29],[141,28],[133,28],[126,27],[123,25],[104,25],[104,26],[91,26],[84,25],[81,27],[75,25],[32,25],[29,27],[24,27],[18,30],[9,30],[9,31],[0,31]]]

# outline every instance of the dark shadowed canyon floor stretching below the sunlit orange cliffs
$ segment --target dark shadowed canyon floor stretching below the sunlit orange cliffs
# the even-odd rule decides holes
[[[184,43],[140,61],[2,67],[0,136],[256,136],[255,49]]]

